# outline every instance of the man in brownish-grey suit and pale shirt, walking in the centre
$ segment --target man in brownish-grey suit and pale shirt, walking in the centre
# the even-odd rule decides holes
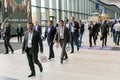
[[[63,64],[63,60],[68,59],[68,55],[66,52],[66,45],[67,43],[70,43],[70,36],[69,36],[69,29],[64,26],[64,21],[59,21],[60,27],[57,28],[56,36],[55,36],[55,42],[60,43],[62,47],[62,53],[61,53],[61,64]]]

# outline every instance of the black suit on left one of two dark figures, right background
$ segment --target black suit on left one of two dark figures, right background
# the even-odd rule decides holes
[[[96,28],[94,25],[89,25],[88,27],[89,30],[89,43],[90,43],[90,47],[92,47],[92,38],[94,41],[94,45],[96,45]]]

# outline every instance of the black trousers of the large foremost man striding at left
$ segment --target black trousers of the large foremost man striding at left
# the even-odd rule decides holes
[[[38,60],[38,53],[33,53],[32,49],[27,48],[27,54],[26,55],[27,55],[30,70],[31,70],[32,74],[35,74],[34,63],[38,65],[39,69],[42,68],[42,64]]]

